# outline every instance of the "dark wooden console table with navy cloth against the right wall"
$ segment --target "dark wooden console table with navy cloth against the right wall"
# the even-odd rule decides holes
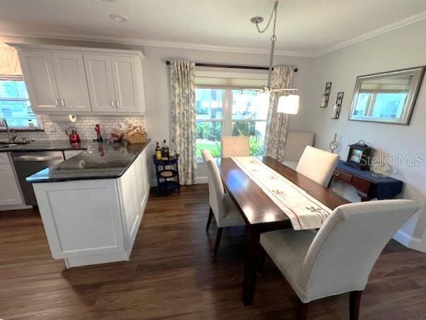
[[[342,160],[333,172],[333,179],[354,186],[361,201],[373,198],[392,199],[402,191],[403,182],[394,178],[374,177],[372,172],[362,171]]]

